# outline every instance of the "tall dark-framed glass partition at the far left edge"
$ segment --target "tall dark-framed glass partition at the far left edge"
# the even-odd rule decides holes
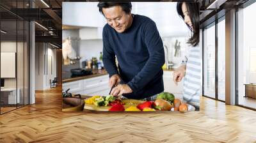
[[[12,1],[13,10],[26,8],[26,3]],[[0,114],[4,114],[29,104],[29,22],[0,7],[0,30]]]

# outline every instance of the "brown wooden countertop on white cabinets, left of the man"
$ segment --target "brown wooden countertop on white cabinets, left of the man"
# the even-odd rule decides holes
[[[81,77],[72,77],[70,79],[64,79],[64,80],[62,80],[62,83],[74,82],[76,80],[90,79],[92,77],[99,77],[99,76],[102,76],[102,75],[108,75],[108,72],[106,70],[93,70],[92,72],[93,72],[92,75],[84,75],[84,76],[81,76]]]

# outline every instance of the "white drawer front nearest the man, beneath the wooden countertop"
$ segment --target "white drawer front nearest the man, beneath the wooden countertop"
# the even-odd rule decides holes
[[[84,89],[92,89],[94,87],[100,88],[100,86],[108,86],[108,75],[103,75],[100,77],[93,77],[92,79],[85,79]]]

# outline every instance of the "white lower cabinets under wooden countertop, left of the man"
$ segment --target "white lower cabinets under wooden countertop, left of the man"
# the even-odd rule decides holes
[[[64,90],[70,88],[69,92],[74,94],[106,96],[110,91],[110,88],[108,86],[108,80],[108,75],[102,75],[90,79],[77,80],[75,82],[67,82],[63,84],[62,88]]]

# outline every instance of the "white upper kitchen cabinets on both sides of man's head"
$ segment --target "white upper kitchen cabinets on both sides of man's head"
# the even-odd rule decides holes
[[[63,25],[103,27],[106,20],[96,2],[63,3]],[[132,13],[154,20],[161,36],[188,36],[189,30],[176,11],[174,2],[132,2]]]

